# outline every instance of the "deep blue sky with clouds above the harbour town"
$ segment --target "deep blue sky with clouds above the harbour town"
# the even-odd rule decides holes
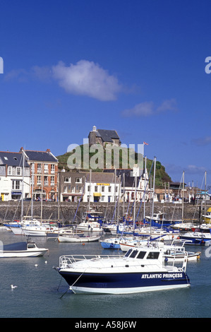
[[[1,0],[1,148],[66,153],[92,126],[211,185],[210,1]]]

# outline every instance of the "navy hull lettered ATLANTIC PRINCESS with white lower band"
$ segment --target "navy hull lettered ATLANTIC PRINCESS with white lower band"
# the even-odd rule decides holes
[[[75,293],[132,294],[189,287],[185,272],[76,273],[58,270]]]

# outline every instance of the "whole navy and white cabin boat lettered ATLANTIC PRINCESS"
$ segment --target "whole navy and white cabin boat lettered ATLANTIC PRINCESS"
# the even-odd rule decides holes
[[[189,287],[187,259],[181,267],[164,265],[160,248],[140,247],[124,256],[61,256],[56,271],[74,293],[131,294]]]

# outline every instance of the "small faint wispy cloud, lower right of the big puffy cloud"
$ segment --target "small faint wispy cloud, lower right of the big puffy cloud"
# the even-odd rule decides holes
[[[159,107],[155,107],[153,102],[140,102],[131,109],[124,109],[121,112],[123,117],[148,117],[160,112],[176,111],[176,100],[164,100]]]

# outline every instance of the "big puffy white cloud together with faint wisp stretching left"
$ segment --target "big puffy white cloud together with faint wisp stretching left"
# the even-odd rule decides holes
[[[17,69],[7,73],[4,78],[5,81],[16,79],[19,82],[36,78],[46,83],[54,79],[67,93],[103,101],[116,100],[118,93],[123,91],[115,76],[109,75],[99,64],[87,60],[69,66],[60,61],[56,66],[32,66],[29,71]]]

